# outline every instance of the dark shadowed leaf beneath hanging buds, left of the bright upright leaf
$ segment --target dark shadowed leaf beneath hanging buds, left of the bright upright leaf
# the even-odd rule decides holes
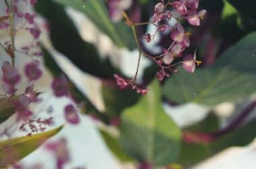
[[[110,116],[119,116],[121,112],[132,106],[139,99],[139,94],[131,90],[120,90],[116,86],[102,85],[102,96],[106,113]]]

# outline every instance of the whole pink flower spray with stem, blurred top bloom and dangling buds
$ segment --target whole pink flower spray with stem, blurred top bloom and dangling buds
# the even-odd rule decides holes
[[[124,14],[124,10],[127,9],[127,6],[120,5],[123,4],[124,1],[125,0],[110,1],[109,11],[110,13],[115,13],[115,15],[119,15],[118,18],[122,18],[123,14],[126,22],[128,21],[130,23],[128,25],[134,28],[133,30],[135,30],[135,26],[140,25],[152,24],[155,26],[156,32],[154,34],[146,33],[143,35],[143,40],[146,40],[146,42],[151,42],[158,32],[170,34],[170,46],[168,46],[168,48],[164,48],[162,53],[158,56],[151,56],[144,53],[139,44],[137,44],[140,53],[152,59],[152,61],[154,61],[154,63],[160,67],[156,73],[158,79],[162,81],[165,77],[169,77],[170,73],[177,73],[178,69],[175,69],[175,67],[181,64],[183,65],[185,71],[193,73],[195,71],[195,67],[200,65],[201,61],[196,60],[196,53],[194,53],[194,55],[183,55],[184,50],[190,46],[189,38],[191,33],[186,32],[185,28],[179,21],[187,20],[191,26],[199,26],[201,24],[201,20],[203,20],[206,10],[203,9],[198,11],[199,0],[169,0],[167,3],[162,0],[155,5],[152,20],[150,22],[143,23],[133,23],[128,16]],[[113,7],[116,7],[115,10]],[[113,15],[110,15],[110,18],[113,19]],[[117,18],[117,16],[115,16],[115,18]],[[176,24],[169,24],[170,20],[174,20]],[[137,39],[136,32],[135,38]],[[131,88],[136,90],[139,89],[137,92],[141,94],[146,94],[148,91],[147,89],[143,89],[143,92],[141,92],[142,90],[137,88],[137,85],[134,83],[135,78],[125,79],[120,75],[115,75],[115,78],[121,89],[131,86]]]

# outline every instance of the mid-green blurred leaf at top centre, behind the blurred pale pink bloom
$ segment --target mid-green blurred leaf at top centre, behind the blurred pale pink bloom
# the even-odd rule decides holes
[[[135,48],[135,40],[131,29],[124,22],[113,23],[110,21],[106,5],[103,0],[56,0],[63,5],[68,5],[86,14],[92,22],[119,47]]]

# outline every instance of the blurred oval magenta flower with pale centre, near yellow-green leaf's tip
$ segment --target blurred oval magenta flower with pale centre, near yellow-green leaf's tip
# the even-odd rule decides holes
[[[79,123],[79,116],[72,104],[65,106],[65,119],[71,125],[77,125]]]

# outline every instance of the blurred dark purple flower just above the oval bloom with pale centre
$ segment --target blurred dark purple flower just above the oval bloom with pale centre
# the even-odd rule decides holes
[[[67,79],[65,77],[55,77],[51,86],[56,97],[67,96]]]

